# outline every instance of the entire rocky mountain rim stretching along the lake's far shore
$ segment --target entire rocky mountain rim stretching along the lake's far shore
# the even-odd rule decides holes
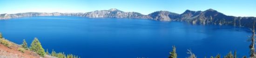
[[[12,19],[32,16],[78,16],[88,18],[130,18],[130,19],[153,19],[161,21],[185,21],[199,25],[230,25],[251,27],[256,17],[235,17],[227,16],[213,9],[206,11],[186,10],[182,14],[171,13],[168,11],[156,11],[148,15],[137,12],[123,12],[112,8],[109,10],[97,10],[88,13],[16,13],[0,14],[0,19]]]

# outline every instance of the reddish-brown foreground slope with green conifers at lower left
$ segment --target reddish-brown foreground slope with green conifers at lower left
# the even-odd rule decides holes
[[[0,58],[80,58],[77,55],[65,54],[64,52],[55,52],[52,50],[51,53],[48,49],[44,50],[39,39],[34,38],[30,46],[28,47],[27,42],[23,39],[21,45],[15,44],[5,39],[0,33]]]

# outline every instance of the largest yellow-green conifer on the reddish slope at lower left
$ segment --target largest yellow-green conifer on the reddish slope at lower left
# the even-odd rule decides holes
[[[32,43],[30,45],[30,50],[33,52],[36,52],[41,57],[45,56],[45,51],[44,51],[40,41],[37,38],[34,38],[34,40],[32,41]]]

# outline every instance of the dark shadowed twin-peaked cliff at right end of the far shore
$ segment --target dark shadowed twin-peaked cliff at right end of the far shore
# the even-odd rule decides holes
[[[174,19],[175,21],[186,21],[198,25],[229,25],[251,27],[256,17],[227,16],[213,9],[206,11],[187,10]]]

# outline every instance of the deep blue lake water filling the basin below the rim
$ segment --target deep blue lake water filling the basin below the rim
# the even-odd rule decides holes
[[[69,16],[0,20],[4,38],[28,44],[37,37],[51,52],[81,58],[168,58],[172,45],[179,58],[191,49],[198,58],[237,51],[249,55],[249,29],[234,26],[195,26],[148,19],[91,19]]]

